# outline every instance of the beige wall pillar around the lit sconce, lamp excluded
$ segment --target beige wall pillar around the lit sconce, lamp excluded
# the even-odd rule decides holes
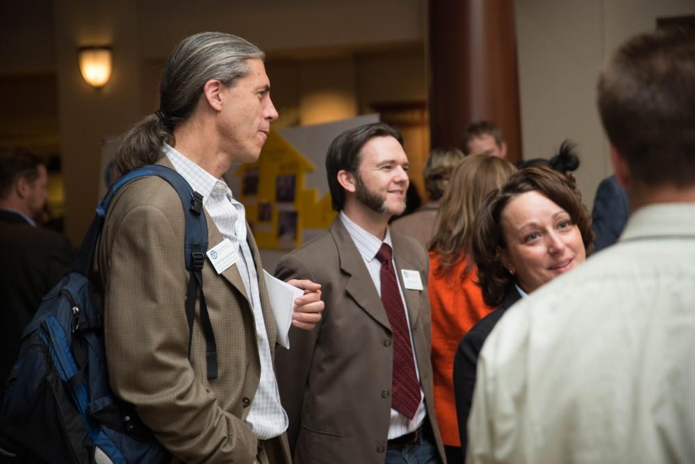
[[[65,181],[65,233],[74,245],[87,230],[97,202],[101,142],[136,121],[140,101],[140,40],[136,0],[56,0],[56,75],[60,154]],[[85,83],[77,47],[111,44],[111,80]]]

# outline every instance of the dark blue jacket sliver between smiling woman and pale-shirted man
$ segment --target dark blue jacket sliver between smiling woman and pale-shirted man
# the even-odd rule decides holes
[[[610,247],[623,232],[628,215],[630,200],[615,176],[606,177],[598,184],[591,219],[596,232],[594,252]]]

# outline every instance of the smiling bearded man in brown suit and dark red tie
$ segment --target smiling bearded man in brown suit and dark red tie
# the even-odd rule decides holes
[[[439,463],[432,404],[427,252],[389,231],[408,158],[398,131],[368,124],[328,149],[329,231],[281,259],[281,279],[321,284],[325,313],[277,354],[295,463]]]

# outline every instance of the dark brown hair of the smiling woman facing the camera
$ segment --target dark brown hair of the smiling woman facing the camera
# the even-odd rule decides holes
[[[563,208],[582,234],[587,256],[594,251],[594,229],[591,216],[582,204],[574,177],[562,174],[550,167],[527,167],[516,172],[509,181],[485,199],[475,216],[475,233],[472,243],[473,260],[478,267],[478,285],[482,289],[485,304],[496,307],[502,303],[514,276],[502,265],[500,249],[505,249],[502,233],[502,211],[509,201],[518,195],[537,191]]]

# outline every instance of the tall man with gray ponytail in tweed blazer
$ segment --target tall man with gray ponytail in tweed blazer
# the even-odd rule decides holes
[[[124,186],[106,216],[97,256],[111,387],[135,406],[174,461],[291,461],[272,365],[277,328],[259,250],[243,205],[221,179],[234,163],[259,157],[277,118],[263,59],[263,51],[235,35],[184,39],[163,70],[159,110],[126,133],[116,156],[121,173],[150,163],[175,169],[202,195],[208,222],[202,290],[217,345],[215,379],[206,374],[198,310],[189,356],[177,192],[157,176]],[[320,285],[288,283],[304,289],[293,324],[313,328],[323,309]]]

